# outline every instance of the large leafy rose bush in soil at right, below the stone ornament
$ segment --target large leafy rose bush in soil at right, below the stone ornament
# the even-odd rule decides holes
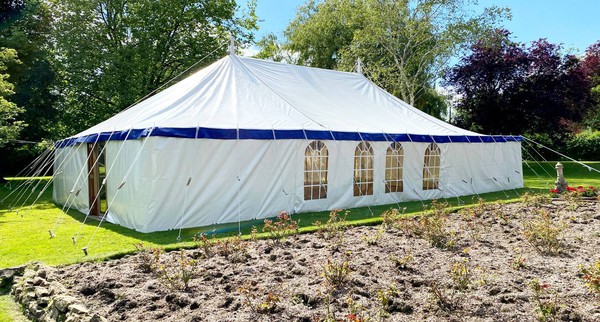
[[[535,217],[523,223],[523,234],[541,254],[556,255],[561,252],[562,235],[567,228],[563,221],[554,223],[547,210],[539,210]]]

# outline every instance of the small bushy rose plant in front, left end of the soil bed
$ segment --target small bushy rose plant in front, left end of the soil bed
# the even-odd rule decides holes
[[[187,290],[190,281],[198,275],[198,261],[186,256],[184,251],[180,251],[175,265],[161,265],[158,275],[159,280],[167,287]]]

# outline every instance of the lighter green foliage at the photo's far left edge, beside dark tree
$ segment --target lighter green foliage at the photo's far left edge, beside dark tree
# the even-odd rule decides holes
[[[0,50],[0,147],[3,147],[9,140],[16,139],[19,131],[25,126],[22,121],[16,120],[17,115],[23,109],[7,100],[8,96],[14,94],[14,86],[7,80],[10,75],[4,73],[6,64],[17,61],[17,52],[14,49],[3,48]]]

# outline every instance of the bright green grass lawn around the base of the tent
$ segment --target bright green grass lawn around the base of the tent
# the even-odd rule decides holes
[[[486,201],[513,202],[525,192],[547,192],[554,184],[556,173],[554,164],[555,162],[524,163],[526,188],[482,194],[481,197]],[[571,186],[600,186],[600,174],[597,172],[588,171],[575,163],[566,162],[564,164],[566,178]],[[588,164],[600,169],[600,162]],[[30,202],[23,202],[29,193],[35,199],[48,180],[50,178],[40,178],[39,181],[28,186],[26,194],[20,198],[21,200],[19,200],[19,194],[13,193],[10,198],[0,203],[0,268],[22,265],[32,261],[39,261],[47,265],[64,265],[88,260],[103,260],[131,253],[135,250],[134,244],[139,242],[143,242],[146,246],[158,246],[167,250],[190,247],[193,245],[192,237],[200,232],[217,236],[227,236],[238,232],[238,223],[184,229],[179,242],[177,230],[143,234],[107,222],[102,223],[98,228],[96,220],[88,219],[83,223],[85,216],[77,211],[71,210],[68,214],[62,213],[61,208],[52,202],[51,186],[43,192],[35,205],[31,206]],[[13,179],[7,184],[0,185],[0,200],[10,194],[15,186],[23,182],[23,179]],[[476,202],[473,196],[460,199],[451,198],[447,201],[454,207],[464,207]],[[10,208],[10,205],[13,204],[14,208]],[[423,210],[423,204],[420,201],[406,202],[400,206],[406,207],[408,215],[418,214]],[[352,225],[377,224],[381,222],[380,214],[391,207],[397,207],[397,205],[371,207],[374,215],[371,215],[368,208],[350,209],[347,219]],[[312,226],[313,222],[316,220],[326,221],[328,215],[329,212],[306,213],[298,214],[294,216],[294,219],[300,220],[301,232],[308,232],[315,230],[315,227]],[[242,222],[242,233],[248,235],[252,226],[260,227],[262,222],[262,220]],[[48,230],[53,231],[54,238],[50,238]],[[74,245],[71,237],[75,235],[78,235],[78,238]],[[90,243],[92,236],[94,239]],[[85,256],[81,250],[85,246],[88,246],[88,256]],[[7,290],[0,290],[0,322],[20,321],[21,317],[7,294]]]

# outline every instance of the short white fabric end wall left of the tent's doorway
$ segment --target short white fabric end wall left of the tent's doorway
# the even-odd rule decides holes
[[[80,144],[54,151],[54,202],[89,211],[87,180],[87,146]],[[79,191],[79,193],[77,193]]]

